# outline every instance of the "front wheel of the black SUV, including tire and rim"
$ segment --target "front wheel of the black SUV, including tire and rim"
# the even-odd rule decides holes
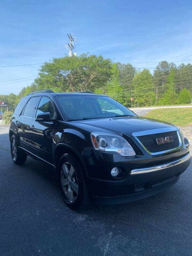
[[[88,208],[91,200],[78,160],[70,154],[62,155],[57,174],[60,192],[65,203],[75,210]]]

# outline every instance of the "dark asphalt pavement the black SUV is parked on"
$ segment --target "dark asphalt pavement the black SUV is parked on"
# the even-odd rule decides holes
[[[13,164],[0,126],[0,255],[192,255],[192,165],[172,188],[128,204],[72,211],[47,167]]]

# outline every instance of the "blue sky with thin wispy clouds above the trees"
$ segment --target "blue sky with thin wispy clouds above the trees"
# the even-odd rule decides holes
[[[0,66],[63,57],[68,33],[78,38],[78,55],[101,54],[151,72],[161,60],[192,63],[191,0],[6,0],[1,3],[0,31]],[[0,94],[18,94],[39,68],[0,68]]]

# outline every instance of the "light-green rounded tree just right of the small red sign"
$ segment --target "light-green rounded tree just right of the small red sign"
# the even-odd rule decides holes
[[[151,106],[155,100],[153,76],[148,69],[143,69],[133,78],[135,90],[133,94],[133,103],[138,106]]]

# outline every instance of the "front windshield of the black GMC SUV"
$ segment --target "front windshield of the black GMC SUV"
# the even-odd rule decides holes
[[[136,116],[131,110],[107,96],[57,96],[67,121],[116,116]]]

